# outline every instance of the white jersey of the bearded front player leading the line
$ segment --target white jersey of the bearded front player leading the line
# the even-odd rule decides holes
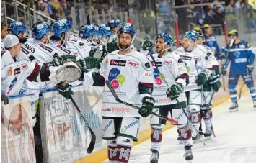
[[[120,99],[141,106],[142,98],[150,96],[150,94],[140,94],[140,88],[146,88],[146,91],[151,93],[154,83],[149,60],[144,54],[135,50],[125,55],[118,55],[118,52],[118,50],[113,51],[102,60],[98,75],[112,83]],[[85,85],[94,83],[92,73],[84,73],[84,80]],[[102,103],[102,116],[140,117],[137,109],[115,101],[106,85]]]

